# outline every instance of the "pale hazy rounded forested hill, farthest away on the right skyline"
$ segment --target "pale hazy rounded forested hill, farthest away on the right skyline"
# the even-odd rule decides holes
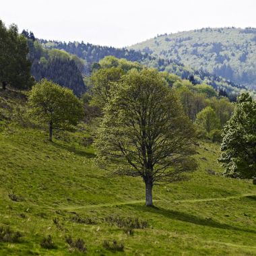
[[[163,34],[129,49],[174,59],[239,84],[256,85],[255,28],[203,28]]]

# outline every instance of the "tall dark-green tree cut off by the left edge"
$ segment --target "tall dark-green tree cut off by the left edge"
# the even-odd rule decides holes
[[[0,20],[0,82],[3,90],[7,85],[15,88],[30,88],[34,82],[30,75],[31,63],[27,58],[28,45],[18,28],[11,25],[8,29]]]

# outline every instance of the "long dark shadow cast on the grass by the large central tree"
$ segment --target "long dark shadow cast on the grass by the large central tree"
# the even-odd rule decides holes
[[[226,230],[236,230],[236,231],[243,231],[243,232],[250,232],[256,234],[256,230],[248,230],[244,228],[238,228],[236,226],[230,226],[228,224],[223,224],[220,222],[216,222],[212,219],[201,218],[199,216],[195,216],[192,214],[188,214],[185,212],[178,212],[175,210],[166,210],[161,207],[147,207],[143,205],[130,205],[135,208],[135,210],[139,212],[151,212],[152,214],[161,214],[166,218],[170,218],[172,220],[180,220],[182,222],[188,222],[200,226],[209,226],[212,228],[222,228]]]

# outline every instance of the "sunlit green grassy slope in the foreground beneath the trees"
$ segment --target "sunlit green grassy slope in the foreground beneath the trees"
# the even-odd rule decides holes
[[[94,166],[84,139],[92,127],[51,143],[43,129],[21,125],[24,98],[8,95],[0,95],[0,230],[22,237],[0,241],[0,255],[82,255],[68,235],[82,238],[88,255],[112,255],[103,243],[114,239],[124,245],[116,255],[256,255],[256,186],[220,175],[218,144],[201,141],[191,180],[154,187],[156,207],[145,207],[141,179],[108,177]],[[127,235],[119,227],[127,218],[148,225]],[[49,234],[56,249],[40,247]]]

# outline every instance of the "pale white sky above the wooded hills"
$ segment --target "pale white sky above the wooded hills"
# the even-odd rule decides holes
[[[0,20],[36,38],[123,47],[205,27],[256,27],[256,0],[0,0]]]

